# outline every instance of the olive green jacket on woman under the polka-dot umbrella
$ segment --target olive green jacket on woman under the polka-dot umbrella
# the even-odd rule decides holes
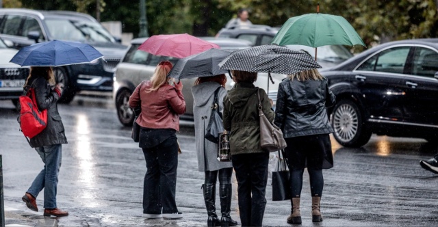
[[[260,146],[259,98],[253,83],[236,83],[224,97],[224,129],[230,133],[231,155],[267,152]],[[268,95],[260,89],[263,113],[271,122],[274,111]]]

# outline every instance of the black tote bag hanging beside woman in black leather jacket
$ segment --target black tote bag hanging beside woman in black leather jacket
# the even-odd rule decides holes
[[[281,152],[284,151],[281,150]],[[289,176],[285,159],[280,155],[279,150],[276,171],[272,171],[272,201],[290,200],[292,198]]]

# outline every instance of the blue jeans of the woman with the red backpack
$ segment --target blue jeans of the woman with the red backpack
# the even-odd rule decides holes
[[[51,146],[41,146],[35,148],[35,150],[44,163],[44,169],[36,176],[32,185],[27,189],[27,193],[30,193],[36,198],[38,193],[44,189],[44,208],[53,209],[57,207],[57,175],[61,167],[62,147],[61,144],[55,144]]]

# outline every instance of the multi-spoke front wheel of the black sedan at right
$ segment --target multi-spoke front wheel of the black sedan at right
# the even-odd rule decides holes
[[[331,115],[331,125],[336,141],[346,147],[363,146],[372,135],[363,124],[363,115],[359,107],[350,100],[337,103]]]

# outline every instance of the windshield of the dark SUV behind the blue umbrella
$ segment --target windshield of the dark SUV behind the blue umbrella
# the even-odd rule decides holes
[[[53,40],[114,42],[114,38],[96,23],[47,18],[46,25]]]

